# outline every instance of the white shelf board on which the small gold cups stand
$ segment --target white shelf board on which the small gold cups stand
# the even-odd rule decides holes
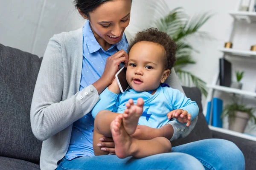
[[[236,55],[236,56],[243,56],[243,57],[250,57],[252,59],[256,59],[256,51],[250,50],[234,50],[232,48],[218,48],[219,51],[222,51],[226,54]]]

